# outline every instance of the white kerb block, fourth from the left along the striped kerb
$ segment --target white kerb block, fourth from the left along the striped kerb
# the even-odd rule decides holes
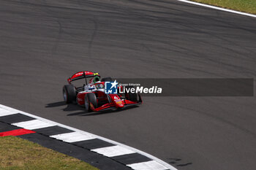
[[[94,150],[91,150],[91,151],[97,152],[99,154],[102,154],[102,155],[105,155],[105,156],[108,156],[108,157],[135,153],[135,151],[128,150],[127,148],[120,147],[118,145],[113,146],[113,147],[101,147],[101,148],[97,148],[97,149],[94,149]]]

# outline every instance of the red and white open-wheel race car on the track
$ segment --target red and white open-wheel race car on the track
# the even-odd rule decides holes
[[[76,87],[73,81],[85,80],[83,86]],[[139,93],[118,93],[121,85],[117,85],[116,80],[113,82],[111,77],[105,77],[100,80],[98,73],[94,72],[77,72],[69,77],[67,80],[69,85],[63,87],[64,101],[69,103],[77,103],[84,106],[89,112],[97,112],[106,109],[122,109],[126,107],[136,106],[142,104]],[[116,85],[116,93],[105,93],[105,84],[111,83]],[[131,88],[127,86],[126,88]],[[111,91],[112,92],[112,91]]]

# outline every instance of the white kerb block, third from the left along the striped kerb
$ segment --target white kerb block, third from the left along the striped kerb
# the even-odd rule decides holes
[[[70,132],[67,134],[57,134],[57,135],[52,135],[50,137],[59,139],[64,142],[79,142],[79,141],[85,141],[85,140],[89,140],[89,139],[95,139],[94,136],[80,134],[79,132]]]

